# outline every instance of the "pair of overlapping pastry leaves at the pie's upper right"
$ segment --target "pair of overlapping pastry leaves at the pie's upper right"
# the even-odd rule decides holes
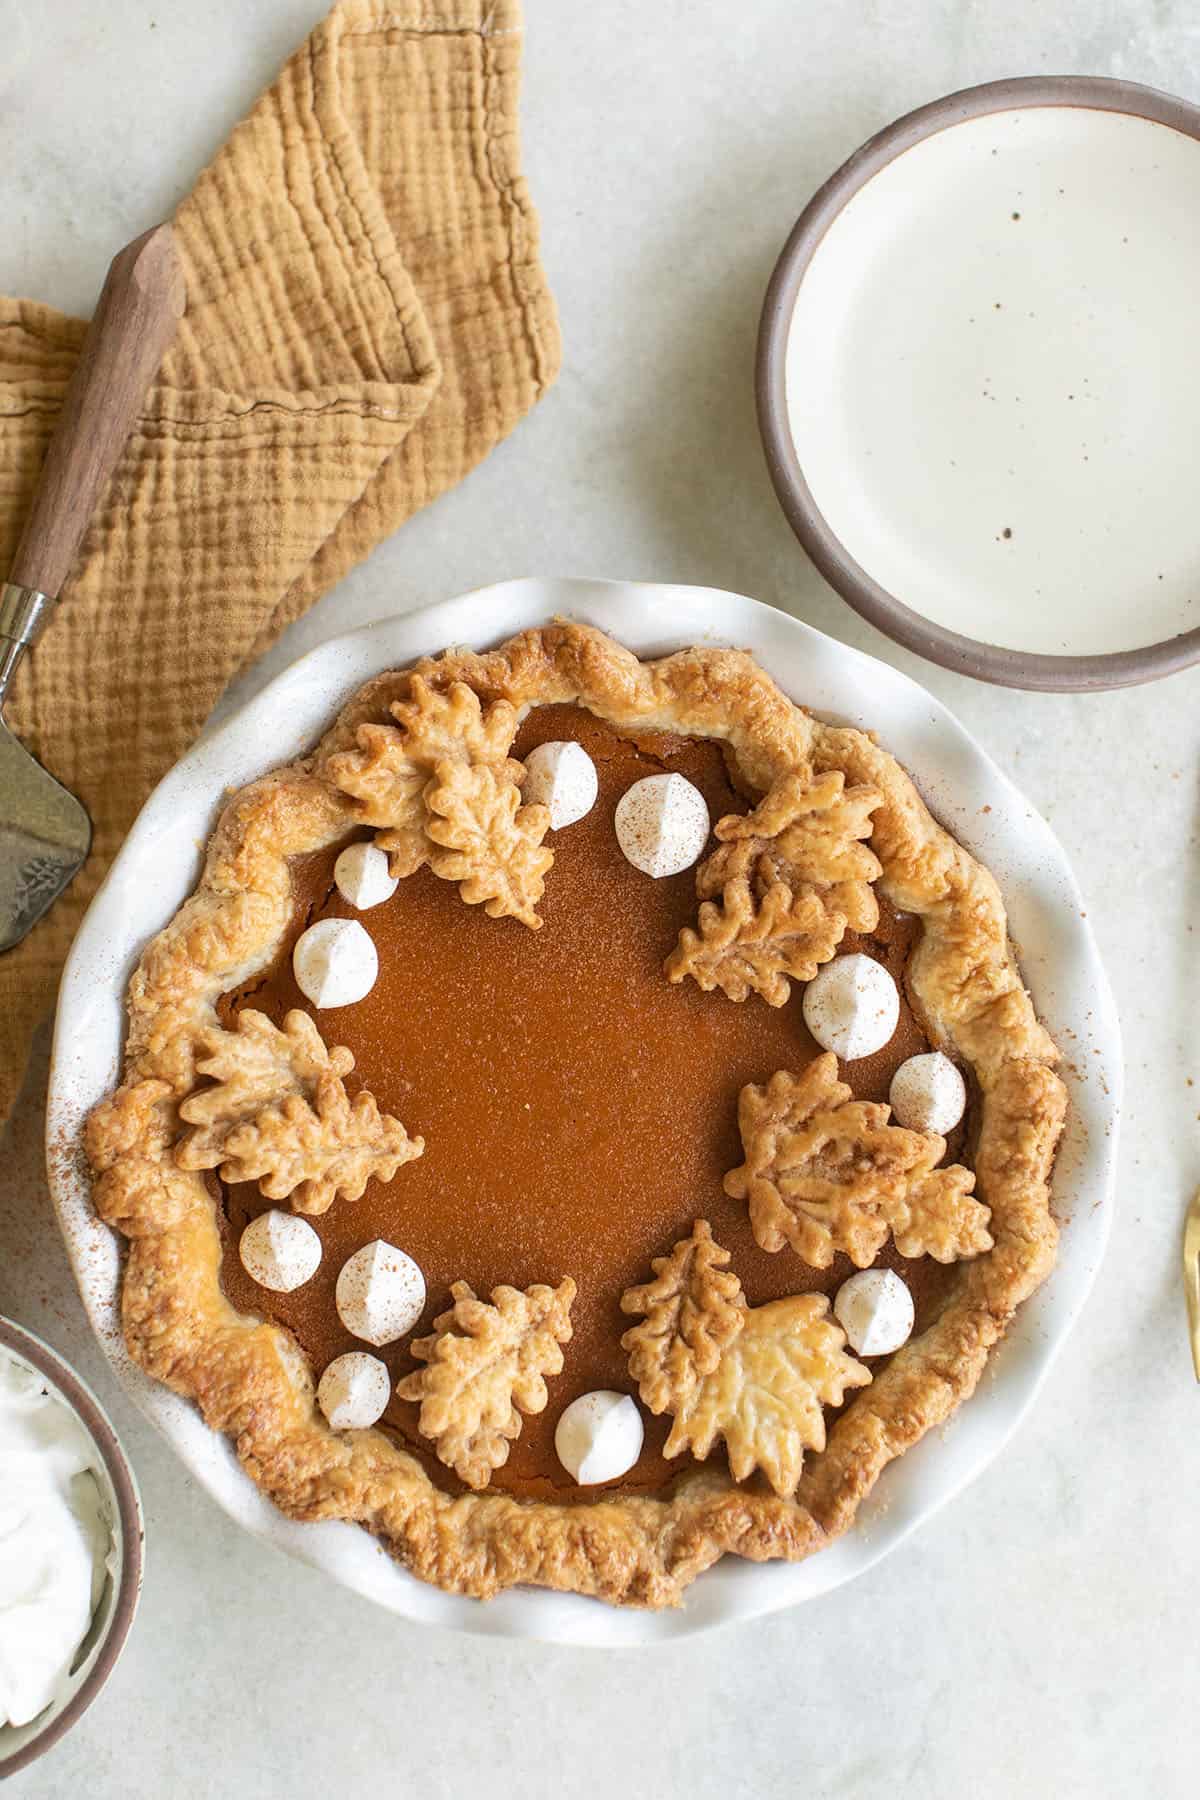
[[[811,981],[847,931],[878,923],[880,862],[862,839],[880,805],[876,788],[847,788],[840,770],[790,774],[754,812],[720,819],[720,844],[696,871],[696,929],[680,931],[667,977],[783,1006],[792,981]]]

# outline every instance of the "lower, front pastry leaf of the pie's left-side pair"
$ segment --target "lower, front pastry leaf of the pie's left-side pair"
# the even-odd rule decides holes
[[[221,1177],[257,1181],[268,1201],[291,1197],[295,1213],[324,1213],[336,1197],[362,1199],[372,1177],[390,1181],[423,1150],[374,1094],[351,1100],[335,1075],[322,1075],[311,1102],[290,1094],[230,1130]]]

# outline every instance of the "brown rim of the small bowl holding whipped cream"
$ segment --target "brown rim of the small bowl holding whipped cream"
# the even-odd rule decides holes
[[[130,1469],[126,1453],[117,1442],[117,1433],[108,1422],[108,1417],[92,1390],[79,1379],[79,1375],[76,1375],[70,1364],[61,1359],[58,1350],[52,1350],[50,1345],[41,1341],[41,1337],[36,1337],[31,1330],[23,1325],[16,1325],[13,1319],[0,1319],[0,1350],[13,1350],[18,1357],[23,1357],[25,1363],[31,1363],[40,1375],[58,1388],[67,1404],[79,1415],[86,1429],[92,1433],[95,1447],[104,1462],[104,1469],[113,1485],[113,1494],[117,1496],[117,1517],[121,1521],[121,1570],[117,1575],[117,1597],[113,1600],[112,1618],[108,1620],[108,1631],[104,1633],[99,1654],[63,1710],[50,1719],[41,1732],[36,1732],[27,1744],[22,1744],[14,1755],[0,1760],[0,1780],[4,1780],[34,1762],[36,1757],[50,1748],[50,1744],[58,1744],[59,1737],[63,1737],[72,1728],[76,1719],[88,1710],[113,1672],[117,1658],[124,1649],[124,1642],[130,1636],[130,1625],[133,1624],[139,1595],[142,1591],[142,1543],[146,1534],[142,1525],[142,1503],[133,1481],[133,1471]]]

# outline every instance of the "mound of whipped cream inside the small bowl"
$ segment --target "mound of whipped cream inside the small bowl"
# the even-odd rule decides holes
[[[88,1433],[0,1350],[0,1724],[29,1724],[63,1692],[112,1555]]]

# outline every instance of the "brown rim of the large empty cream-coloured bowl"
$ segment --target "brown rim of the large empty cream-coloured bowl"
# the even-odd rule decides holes
[[[1130,113],[1200,139],[1200,108],[1157,88],[1139,86],[1135,81],[1108,81],[1101,76],[1024,76],[988,81],[984,86],[963,88],[928,106],[918,106],[916,112],[878,131],[808,202],[770,277],[756,358],[757,416],[766,466],[792,529],[826,581],[855,612],[907,650],[916,650],[918,655],[961,675],[973,675],[977,680],[1004,688],[1036,688],[1049,693],[1130,688],[1135,682],[1173,675],[1200,661],[1200,626],[1139,650],[1058,657],[1004,650],[1000,644],[986,644],[934,625],[889,594],[855,562],[820,513],[788,430],[788,329],[801,281],[833,220],[860,187],[914,144],[966,119],[981,119],[1013,106],[1085,106],[1096,112]]]

